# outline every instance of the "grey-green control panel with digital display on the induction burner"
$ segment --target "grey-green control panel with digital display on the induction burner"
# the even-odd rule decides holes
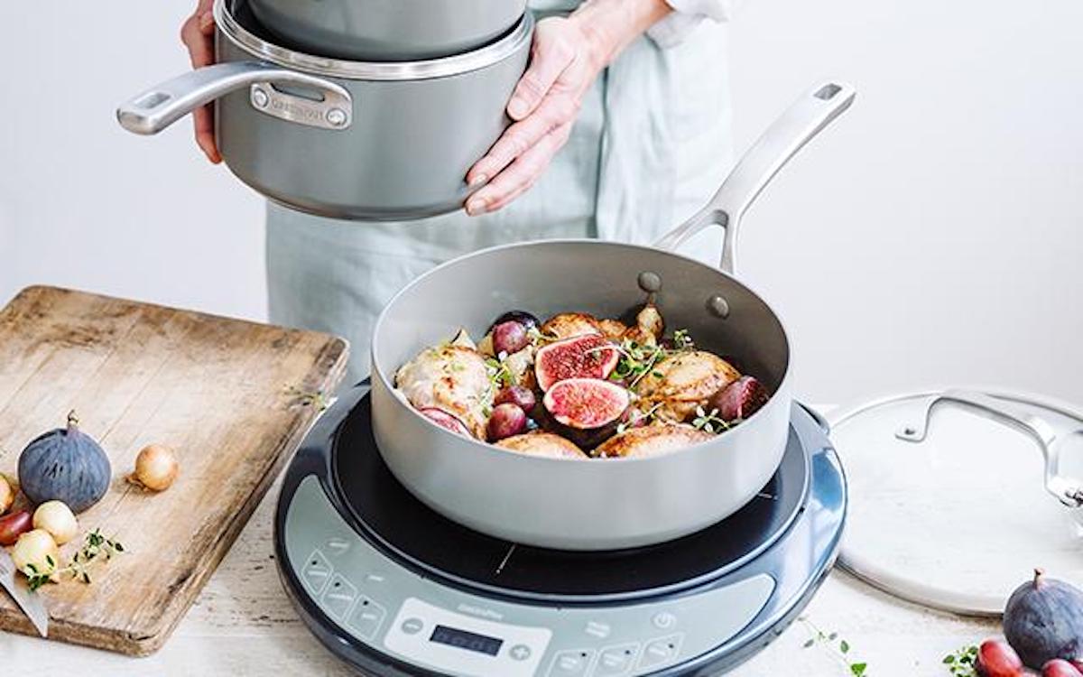
[[[356,641],[412,665],[470,677],[660,671],[735,636],[775,585],[756,574],[701,593],[589,607],[475,595],[421,576],[375,548],[345,523],[312,476],[289,506],[285,550],[305,593]]]

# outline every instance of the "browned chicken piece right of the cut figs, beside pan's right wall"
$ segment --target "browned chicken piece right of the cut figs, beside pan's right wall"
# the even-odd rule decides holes
[[[660,360],[636,386],[639,408],[652,409],[657,418],[688,419],[710,395],[741,378],[741,374],[718,355],[702,350],[679,352]]]

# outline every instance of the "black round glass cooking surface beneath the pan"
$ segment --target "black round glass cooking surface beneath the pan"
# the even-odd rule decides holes
[[[807,454],[791,427],[782,464],[760,494],[703,531],[655,546],[602,552],[514,545],[453,522],[415,498],[380,457],[369,415],[365,396],[336,438],[332,476],[349,511],[343,517],[421,573],[491,594],[589,602],[692,586],[765,550],[793,522],[807,493]]]

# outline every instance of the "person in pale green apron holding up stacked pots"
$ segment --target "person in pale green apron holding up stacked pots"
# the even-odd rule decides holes
[[[368,373],[380,310],[443,261],[542,238],[645,244],[690,216],[731,157],[731,2],[532,1],[540,21],[508,103],[513,122],[467,174],[477,191],[465,210],[358,223],[269,203],[271,322],[348,338],[353,383]],[[214,61],[211,5],[199,0],[181,30],[194,67]],[[219,162],[212,115],[195,112],[196,142]]]

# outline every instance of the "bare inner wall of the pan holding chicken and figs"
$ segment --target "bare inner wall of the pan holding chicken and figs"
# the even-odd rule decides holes
[[[486,249],[418,277],[388,305],[373,341],[375,376],[393,383],[397,368],[459,327],[477,341],[499,314],[525,310],[545,320],[560,312],[619,317],[641,304],[641,272],[662,278],[655,302],[667,333],[688,329],[696,344],[778,390],[790,344],[778,317],[745,285],[696,261],[648,247],[600,240],[554,240]],[[729,315],[708,301],[720,296]]]

